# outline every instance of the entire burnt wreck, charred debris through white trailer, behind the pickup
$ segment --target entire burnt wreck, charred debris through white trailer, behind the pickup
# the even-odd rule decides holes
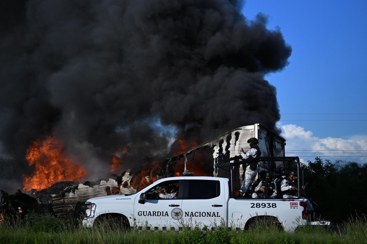
[[[15,214],[18,208],[21,207],[23,214],[28,210],[33,210],[40,213],[53,213],[61,218],[71,218],[75,204],[77,202],[85,202],[92,197],[134,194],[141,188],[162,177],[189,176],[194,173],[197,176],[210,176],[211,172],[213,176],[218,176],[221,173],[218,169],[221,168],[222,161],[239,160],[241,159],[239,155],[240,149],[250,149],[247,143],[249,138],[258,139],[262,157],[285,156],[284,146],[286,142],[283,138],[260,124],[247,125],[226,132],[199,146],[195,145],[190,150],[169,158],[165,162],[162,162],[162,164],[155,162],[149,168],[146,162],[142,164],[143,169],[141,172],[134,176],[131,174],[131,170],[127,170],[121,176],[112,174],[116,179],[109,179],[107,181],[94,179],[92,181],[86,181],[84,184],[76,181],[62,181],[40,191],[32,189],[22,193],[18,190],[14,195],[8,195],[2,191],[3,204],[1,205],[0,212],[5,213],[8,210]],[[190,143],[190,146],[192,145]],[[188,155],[192,154],[193,159],[195,153],[204,148],[212,155],[212,169],[214,170],[211,171],[211,167],[207,167],[190,172],[188,169],[195,168],[195,161],[189,160]],[[183,160],[181,161],[181,159]],[[181,161],[182,164],[177,164],[178,161]],[[276,171],[280,168],[280,164],[281,162],[270,163],[262,161],[259,164],[259,168]],[[222,173],[224,173],[225,177],[228,177],[226,172]],[[236,173],[238,176],[237,181],[239,180],[242,183],[244,173],[242,166],[240,166],[239,172]]]

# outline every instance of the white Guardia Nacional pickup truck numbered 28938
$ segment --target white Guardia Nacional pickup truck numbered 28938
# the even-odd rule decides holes
[[[177,198],[161,199],[158,192],[172,185],[178,188]],[[170,177],[133,195],[101,196],[78,203],[74,219],[87,227],[107,220],[126,228],[151,230],[180,230],[183,225],[211,229],[221,224],[246,229],[259,217],[271,219],[286,231],[308,224],[307,199],[243,199],[233,194],[230,179]]]

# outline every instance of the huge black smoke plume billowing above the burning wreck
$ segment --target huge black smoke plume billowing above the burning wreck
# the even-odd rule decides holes
[[[242,1],[0,4],[0,140],[16,162],[0,188],[22,188],[26,149],[51,133],[105,179],[121,147],[124,169],[171,157],[164,128],[199,144],[253,123],[277,131],[264,75],[286,67],[291,47],[266,16],[247,20]]]

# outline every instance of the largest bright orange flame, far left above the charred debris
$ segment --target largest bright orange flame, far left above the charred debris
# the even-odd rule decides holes
[[[64,155],[61,140],[47,136],[43,142],[36,140],[27,149],[26,159],[29,165],[35,165],[32,176],[23,175],[23,191],[41,190],[58,181],[81,181],[86,170]]]

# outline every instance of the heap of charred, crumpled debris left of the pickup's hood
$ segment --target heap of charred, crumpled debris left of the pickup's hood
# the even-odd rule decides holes
[[[107,195],[134,194],[136,189],[130,186],[132,175],[130,170],[113,174],[116,179],[108,181],[94,179],[84,183],[74,181],[61,181],[47,189],[21,192],[9,195],[1,190],[1,219],[5,215],[23,218],[26,213],[52,213],[63,219],[71,218],[77,202],[85,202],[89,198]],[[0,221],[1,221],[0,219]]]

